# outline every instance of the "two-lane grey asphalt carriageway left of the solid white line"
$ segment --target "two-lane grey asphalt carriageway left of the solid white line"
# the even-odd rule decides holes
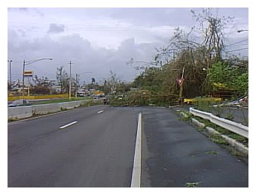
[[[8,187],[130,187],[137,120],[97,106],[8,124]]]

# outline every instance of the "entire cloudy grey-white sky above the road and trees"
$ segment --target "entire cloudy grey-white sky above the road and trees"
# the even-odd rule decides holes
[[[63,66],[69,73],[71,61],[72,74],[80,74],[81,82],[95,77],[102,83],[109,71],[132,81],[139,72],[126,62],[130,58],[152,62],[155,48],[166,46],[175,28],[188,31],[197,25],[191,9],[202,11],[189,7],[8,8],[12,80],[21,80],[23,60],[53,58],[27,65],[26,70],[55,80],[56,68]],[[248,55],[248,32],[237,33],[248,29],[248,8],[218,8],[218,16],[235,17],[224,29],[226,50]]]

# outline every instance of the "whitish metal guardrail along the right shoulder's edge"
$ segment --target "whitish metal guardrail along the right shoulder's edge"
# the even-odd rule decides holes
[[[225,129],[230,130],[233,133],[237,133],[240,136],[244,136],[248,138],[248,127],[246,127],[245,125],[227,120],[225,118],[219,118],[218,116],[215,116],[212,113],[206,113],[201,110],[195,110],[194,108],[191,108],[191,107],[189,112],[193,115],[197,115],[201,118],[205,118],[211,121],[212,123],[215,123],[221,127],[224,127]]]

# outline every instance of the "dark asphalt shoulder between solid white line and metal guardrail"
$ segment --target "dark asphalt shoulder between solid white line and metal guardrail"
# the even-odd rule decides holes
[[[141,187],[248,187],[248,164],[181,121],[144,108]]]

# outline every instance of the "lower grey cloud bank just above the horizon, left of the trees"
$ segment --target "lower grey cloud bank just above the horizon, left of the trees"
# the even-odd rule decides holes
[[[8,39],[8,58],[17,64],[12,70],[15,80],[21,77],[22,65],[25,60],[34,58],[53,58],[53,61],[37,62],[27,68],[35,72],[38,77],[47,76],[51,80],[56,79],[56,68],[64,66],[69,72],[69,61],[72,63],[72,74],[81,74],[81,82],[87,82],[91,77],[95,77],[97,82],[101,82],[109,77],[109,72],[113,71],[122,80],[131,81],[138,72],[126,62],[130,58],[136,61],[148,61],[154,58],[154,48],[157,43],[136,43],[134,38],[123,40],[117,49],[106,49],[105,47],[94,48],[89,40],[84,39],[79,34],[71,34],[53,40],[50,36],[37,38],[29,41],[24,40],[19,44],[15,43],[13,34]],[[18,55],[17,55],[18,54]],[[82,73],[90,71],[91,74]],[[86,77],[85,77],[86,76]],[[89,80],[90,81],[90,80]]]

